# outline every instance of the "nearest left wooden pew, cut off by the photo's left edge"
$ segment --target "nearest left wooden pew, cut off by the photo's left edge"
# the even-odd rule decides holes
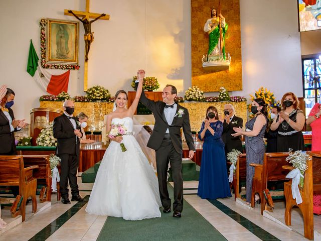
[[[24,167],[23,156],[0,156],[0,186],[19,186],[19,195],[23,198],[20,206],[22,220],[26,218],[26,201],[32,198],[32,212],[37,211],[37,179],[33,169],[38,166]]]

